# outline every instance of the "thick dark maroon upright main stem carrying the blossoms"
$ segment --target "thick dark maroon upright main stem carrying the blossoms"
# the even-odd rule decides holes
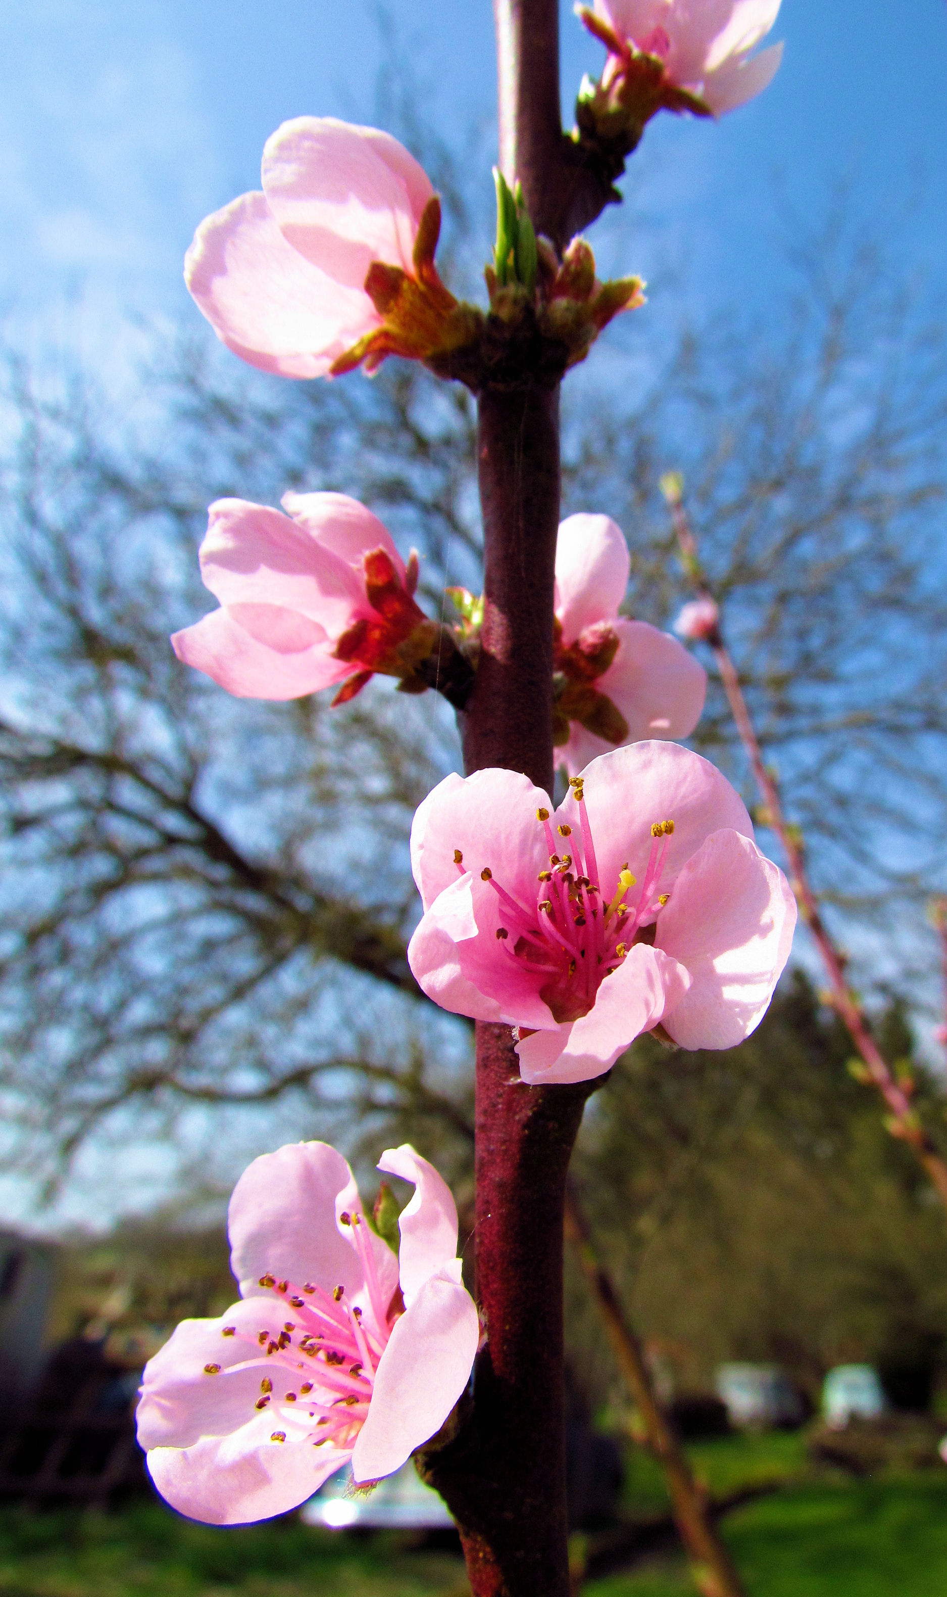
[[[541,232],[559,121],[557,0],[497,0],[500,149]],[[559,390],[479,396],[484,623],[462,719],[465,770],[553,787]],[[501,818],[497,818],[501,821]],[[474,1597],[569,1597],[562,1343],[565,1172],[591,1084],[527,1088],[513,1033],[477,1024],[476,1290],[487,1326],[473,1413],[428,1455]]]

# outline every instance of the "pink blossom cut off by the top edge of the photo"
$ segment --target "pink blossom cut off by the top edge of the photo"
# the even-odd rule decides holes
[[[594,13],[589,16],[581,8],[581,14],[612,51],[604,85],[620,72],[634,72],[636,54],[650,56],[663,62],[666,89],[693,96],[714,117],[722,117],[754,99],[773,80],[783,45],[771,45],[755,56],[752,51],[773,27],[779,3],[594,0]],[[669,109],[687,105],[671,99]]]

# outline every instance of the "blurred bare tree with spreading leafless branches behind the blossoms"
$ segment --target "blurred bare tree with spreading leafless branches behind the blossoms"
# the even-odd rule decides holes
[[[457,200],[470,257],[466,225]],[[682,588],[656,484],[684,470],[816,885],[866,971],[904,984],[945,872],[945,342],[837,219],[794,268],[765,329],[666,339],[632,394],[578,374],[565,511],[615,516],[629,607],[669,624]],[[639,374],[642,326],[615,334]],[[407,1104],[422,1143],[454,1124],[460,1171],[466,1033],[404,958],[410,816],[457,760],[447,706],[377,682],[339,711],[235,701],[168,634],[209,607],[196,546],[224,493],[342,489],[418,546],[436,613],[446,583],[476,588],[470,396],[399,364],[281,383],[208,334],[121,418],[13,356],[3,407],[0,1086],[18,1156],[50,1171],[117,1113],[166,1129],[195,1102],[291,1102],[302,1131],[353,1145]],[[695,741],[744,783],[714,687]]]

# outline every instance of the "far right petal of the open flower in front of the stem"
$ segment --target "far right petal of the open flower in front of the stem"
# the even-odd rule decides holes
[[[765,1014],[783,974],[797,907],[778,866],[738,832],[703,843],[658,915],[655,947],[691,987],[666,1022],[682,1048],[735,1048]]]

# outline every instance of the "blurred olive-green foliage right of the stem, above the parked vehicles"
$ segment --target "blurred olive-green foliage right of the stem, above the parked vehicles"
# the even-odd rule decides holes
[[[878,1035],[913,1054],[901,1006]],[[850,1052],[797,971],[741,1048],[672,1052],[645,1036],[591,1100],[581,1199],[679,1389],[706,1388],[727,1359],[784,1364],[813,1401],[834,1364],[939,1362],[944,1212],[848,1075]],[[923,1070],[917,1081],[942,1127],[942,1088]],[[575,1271],[569,1308],[577,1375],[607,1401],[620,1388]]]

